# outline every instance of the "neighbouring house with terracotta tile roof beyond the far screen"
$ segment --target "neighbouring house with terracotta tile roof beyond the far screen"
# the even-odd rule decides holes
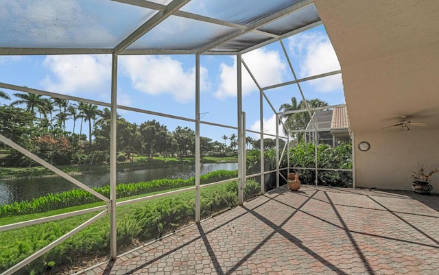
[[[316,139],[316,134],[318,144],[327,143],[335,147],[341,142],[350,142],[351,135],[346,106],[314,112],[305,129],[305,143],[313,142]]]

